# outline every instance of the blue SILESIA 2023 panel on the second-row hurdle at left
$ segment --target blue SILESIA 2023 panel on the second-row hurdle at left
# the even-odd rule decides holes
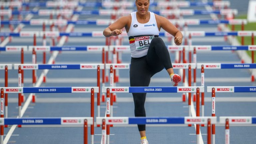
[[[23,93],[71,93],[71,87],[23,87]]]

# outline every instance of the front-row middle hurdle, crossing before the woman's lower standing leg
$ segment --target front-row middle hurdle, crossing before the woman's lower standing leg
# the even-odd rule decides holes
[[[217,122],[216,117],[96,117],[96,123],[102,125],[103,138],[105,137],[105,124],[107,127],[113,125],[129,124],[207,124],[207,142],[211,143],[211,124]],[[106,144],[109,144],[109,131],[107,129]],[[104,143],[105,144],[105,141]],[[199,141],[197,139],[197,144]]]

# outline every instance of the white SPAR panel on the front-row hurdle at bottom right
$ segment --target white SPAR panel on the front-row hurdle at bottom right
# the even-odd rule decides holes
[[[234,116],[234,117],[220,117],[220,123],[225,124],[226,119],[228,119],[229,124],[252,124],[252,117]]]

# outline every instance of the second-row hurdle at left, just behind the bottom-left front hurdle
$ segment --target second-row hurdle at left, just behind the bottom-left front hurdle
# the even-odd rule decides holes
[[[21,118],[21,93],[91,93],[91,117],[94,119],[94,93],[99,92],[99,87],[3,87],[1,89],[1,117],[4,117],[4,94],[19,94],[19,116]],[[93,120],[94,121],[94,120]],[[21,125],[18,125],[21,127]],[[0,128],[3,132],[3,126]],[[2,142],[2,140],[1,140]],[[91,144],[94,143],[94,122],[91,125]]]

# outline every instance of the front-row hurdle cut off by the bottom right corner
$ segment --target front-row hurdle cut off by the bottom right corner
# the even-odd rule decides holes
[[[230,125],[246,125],[246,124],[256,124],[256,117],[242,117],[242,116],[234,116],[234,117],[220,117],[220,124],[225,124],[225,144],[230,143]]]

